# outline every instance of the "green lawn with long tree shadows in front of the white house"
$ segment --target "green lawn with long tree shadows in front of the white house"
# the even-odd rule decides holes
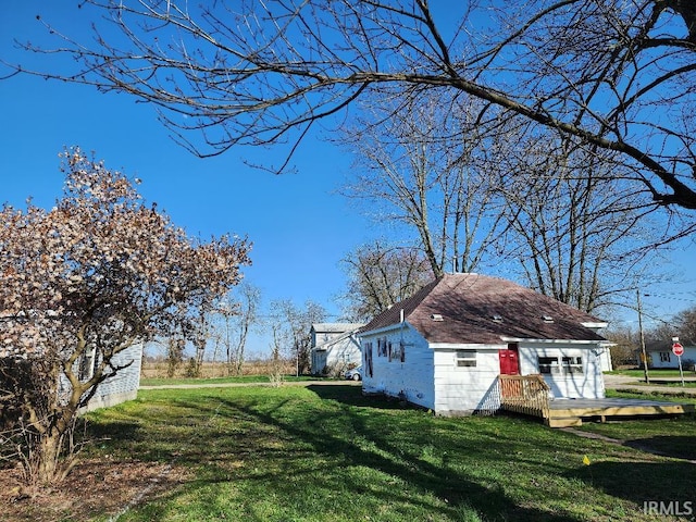
[[[110,437],[92,456],[192,476],[120,521],[666,520],[643,502],[692,501],[696,483],[685,461],[526,419],[435,418],[351,386],[147,390],[89,418]]]

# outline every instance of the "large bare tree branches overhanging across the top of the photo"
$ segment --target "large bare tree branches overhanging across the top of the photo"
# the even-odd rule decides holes
[[[654,204],[696,209],[696,10],[687,0],[482,0],[459,4],[459,24],[450,4],[440,15],[427,0],[80,7],[95,14],[94,44],[49,26],[62,42],[40,50],[67,53],[77,69],[47,64],[35,74],[153,103],[202,156],[283,142],[291,154],[315,123],[358,99],[450,90],[614,151],[625,166],[617,175]],[[191,129],[207,148],[186,137]]]

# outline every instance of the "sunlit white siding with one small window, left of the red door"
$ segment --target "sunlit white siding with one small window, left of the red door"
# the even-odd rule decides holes
[[[475,350],[475,366],[458,366],[457,350]],[[500,408],[498,347],[485,345],[436,348],[435,412],[465,415]]]

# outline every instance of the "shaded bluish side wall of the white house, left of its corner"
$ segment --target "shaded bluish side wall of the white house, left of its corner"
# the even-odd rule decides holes
[[[388,356],[380,356],[377,338],[386,339],[393,346],[403,343],[403,362],[389,361]],[[372,369],[373,374],[368,374],[368,365],[364,359],[365,344],[372,343]],[[423,408],[435,408],[433,388],[433,350],[425,339],[408,323],[390,331],[361,337],[363,350],[362,362],[362,389],[368,394],[385,394],[399,397],[403,394],[409,402]]]

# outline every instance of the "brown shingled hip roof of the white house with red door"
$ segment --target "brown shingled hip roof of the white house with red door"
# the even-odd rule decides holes
[[[502,337],[604,340],[581,324],[601,322],[597,318],[510,281],[480,274],[445,274],[361,332],[398,324],[401,310],[428,343],[499,344]],[[442,321],[434,321],[434,314]]]

